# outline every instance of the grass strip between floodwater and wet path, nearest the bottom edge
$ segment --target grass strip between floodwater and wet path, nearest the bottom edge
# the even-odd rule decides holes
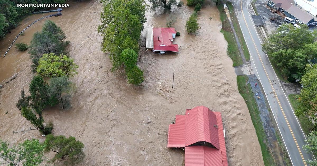
[[[269,151],[269,147],[267,146],[267,144],[265,144],[265,142],[267,142],[267,138],[260,118],[260,111],[251,89],[251,85],[245,85],[248,80],[248,76],[237,76],[238,90],[248,106],[253,126],[256,129],[256,135],[261,146],[264,165],[275,165],[273,155],[271,151]]]

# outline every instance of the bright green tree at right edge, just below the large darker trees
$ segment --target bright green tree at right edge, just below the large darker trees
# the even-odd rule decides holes
[[[305,74],[301,78],[301,94],[298,101],[299,106],[295,110],[297,116],[301,114],[308,115],[312,120],[316,121],[317,112],[317,64],[307,65],[305,68]],[[317,139],[317,138],[316,138]]]

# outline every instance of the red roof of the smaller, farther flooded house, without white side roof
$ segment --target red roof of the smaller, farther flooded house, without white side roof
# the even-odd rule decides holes
[[[175,28],[153,28],[153,50],[178,52],[178,45],[172,44],[172,34],[176,34]]]

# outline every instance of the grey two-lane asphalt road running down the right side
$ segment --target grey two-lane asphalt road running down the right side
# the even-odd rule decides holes
[[[307,154],[302,148],[306,144],[305,135],[268,56],[262,51],[262,39],[257,34],[250,14],[250,1],[235,1],[234,5],[244,39],[249,48],[251,64],[256,77],[262,84],[292,164],[294,166],[307,166],[305,160],[312,160],[313,156]]]

